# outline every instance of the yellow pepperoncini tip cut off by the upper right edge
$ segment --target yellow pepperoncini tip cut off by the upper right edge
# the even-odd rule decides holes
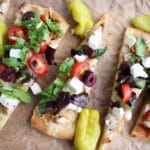
[[[137,16],[132,20],[132,23],[136,28],[150,32],[150,15]]]

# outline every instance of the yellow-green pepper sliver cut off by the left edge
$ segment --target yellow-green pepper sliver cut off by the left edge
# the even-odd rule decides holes
[[[0,20],[0,58],[4,55],[4,44],[7,42],[7,25]]]

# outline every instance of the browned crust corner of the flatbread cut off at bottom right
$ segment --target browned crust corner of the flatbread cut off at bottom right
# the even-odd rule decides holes
[[[146,102],[136,122],[135,127],[131,131],[131,136],[150,142],[150,128],[142,125],[142,119],[147,111],[150,111],[150,102]]]

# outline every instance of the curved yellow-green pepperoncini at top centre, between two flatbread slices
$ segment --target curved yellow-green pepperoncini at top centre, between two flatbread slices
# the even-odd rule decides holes
[[[69,10],[74,21],[78,23],[75,27],[75,34],[82,37],[88,29],[93,27],[93,21],[90,13],[85,4],[83,4],[80,0],[73,0],[69,4]]]

